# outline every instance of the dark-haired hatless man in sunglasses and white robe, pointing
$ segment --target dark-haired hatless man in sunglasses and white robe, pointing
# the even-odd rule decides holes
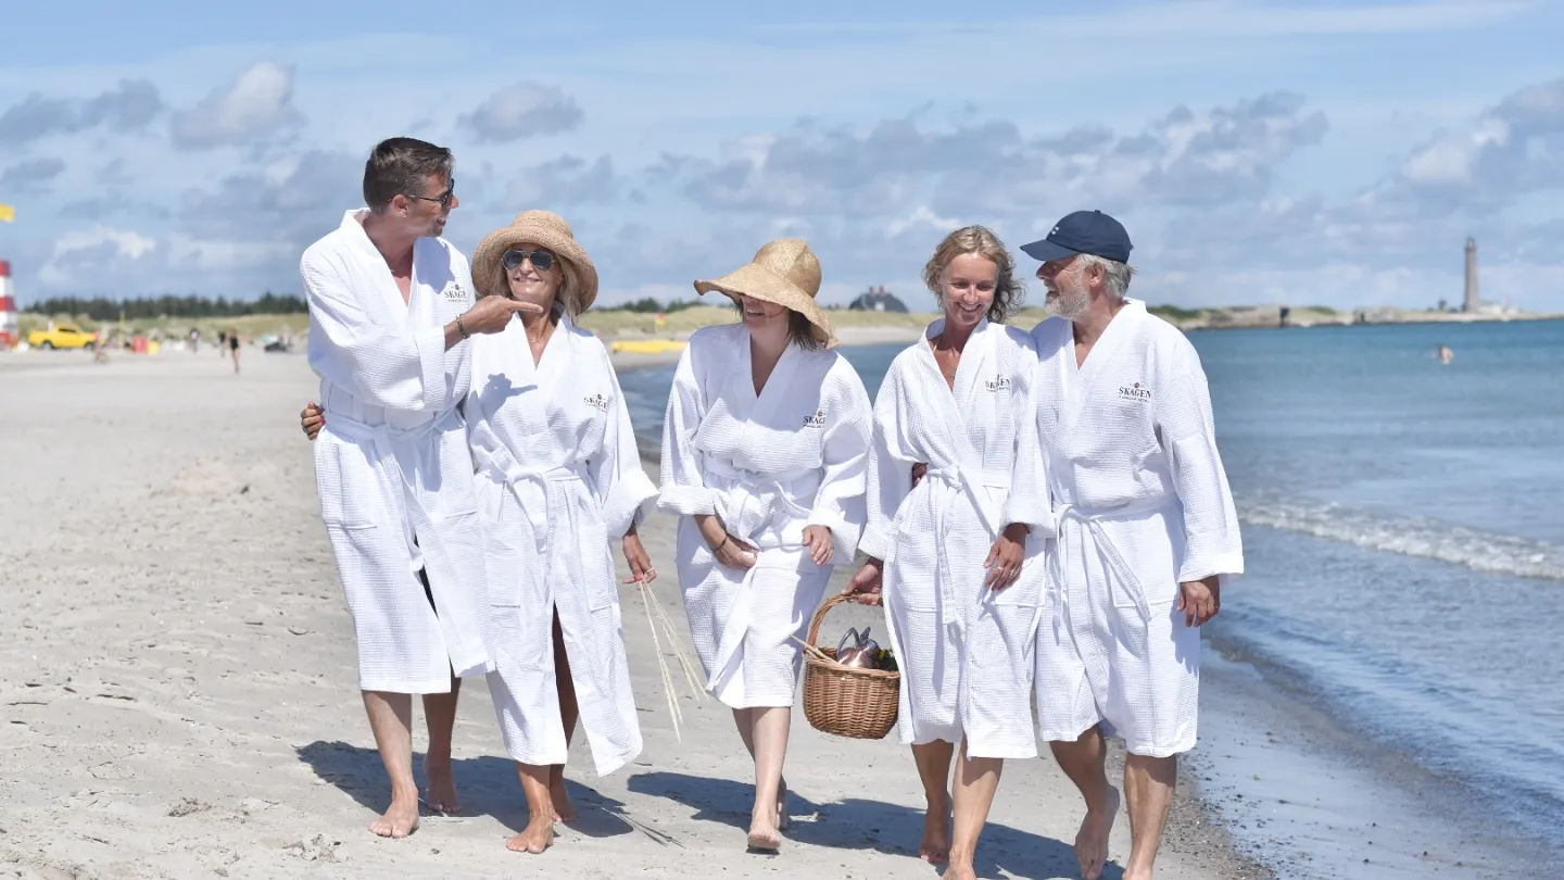
[[[380,836],[418,828],[413,694],[429,723],[429,806],[458,808],[450,733],[460,678],[488,667],[488,590],[466,426],[463,340],[496,334],[536,305],[474,305],[466,257],[439,238],[460,205],[446,147],[413,138],[375,146],[364,204],[305,251],[310,366],[327,427],[316,489],[358,639],[358,687],[391,808]]]

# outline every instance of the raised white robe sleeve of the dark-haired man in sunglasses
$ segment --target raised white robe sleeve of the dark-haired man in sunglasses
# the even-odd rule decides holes
[[[444,327],[407,334],[375,324],[349,272],[327,252],[307,251],[299,274],[310,304],[310,366],[319,376],[371,406],[447,406]]]

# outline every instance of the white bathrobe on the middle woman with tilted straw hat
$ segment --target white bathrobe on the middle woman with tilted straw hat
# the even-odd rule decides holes
[[[846,359],[790,346],[757,396],[741,324],[690,337],[663,424],[660,506],[682,514],[679,582],[712,694],[735,709],[791,706],[810,615],[863,529],[870,399]],[[716,564],[696,526],[715,514],[760,550],[744,572]],[[816,565],[804,528],[830,528]]]

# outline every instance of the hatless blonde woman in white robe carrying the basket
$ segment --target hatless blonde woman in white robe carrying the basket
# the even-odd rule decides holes
[[[918,853],[948,860],[952,878],[976,877],[973,857],[1004,759],[1037,756],[1042,537],[1029,532],[1043,523],[1010,504],[1037,355],[1024,330],[999,324],[1021,299],[1013,269],[981,225],[948,235],[924,268],[945,318],[891,362],[874,401],[859,545],[870,561],[845,590],[884,601],[902,675],[898,730],[927,800]],[[1015,495],[1029,490],[1017,485]]]

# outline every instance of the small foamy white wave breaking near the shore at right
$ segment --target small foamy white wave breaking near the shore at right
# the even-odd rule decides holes
[[[1297,498],[1254,496],[1239,500],[1239,520],[1387,553],[1439,559],[1478,572],[1564,581],[1564,546],[1422,517],[1397,517]]]

